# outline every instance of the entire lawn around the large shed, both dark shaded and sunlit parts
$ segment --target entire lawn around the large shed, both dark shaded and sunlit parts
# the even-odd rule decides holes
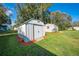
[[[21,45],[16,35],[0,37],[0,55],[79,55],[79,31],[47,33],[46,39]]]

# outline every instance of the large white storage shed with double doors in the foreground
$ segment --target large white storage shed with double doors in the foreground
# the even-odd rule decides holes
[[[18,34],[24,42],[42,39],[45,36],[44,23],[37,19],[30,19],[18,27]]]

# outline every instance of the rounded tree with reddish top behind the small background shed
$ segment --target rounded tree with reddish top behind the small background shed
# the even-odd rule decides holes
[[[51,15],[53,16],[51,18],[51,23],[58,25],[59,30],[66,30],[68,27],[72,26],[72,18],[70,15],[60,11],[51,13]]]

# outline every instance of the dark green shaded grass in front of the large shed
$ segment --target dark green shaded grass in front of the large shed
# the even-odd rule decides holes
[[[10,35],[0,37],[0,56],[56,56],[56,54],[35,43],[23,46],[16,40],[16,35]]]

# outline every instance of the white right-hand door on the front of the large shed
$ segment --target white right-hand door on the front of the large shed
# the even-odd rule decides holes
[[[43,26],[34,25],[34,39],[38,39],[43,36]]]

